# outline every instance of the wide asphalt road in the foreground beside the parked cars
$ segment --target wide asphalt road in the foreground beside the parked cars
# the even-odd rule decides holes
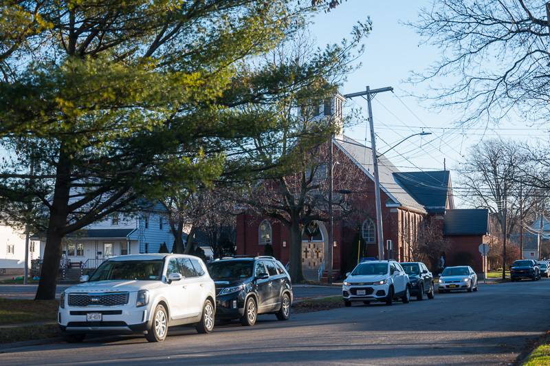
[[[408,304],[354,305],[260,316],[212,334],[170,329],[164,343],[142,336],[89,339],[5,350],[0,365],[498,365],[550,329],[550,280],[481,285],[478,292],[436,294]]]

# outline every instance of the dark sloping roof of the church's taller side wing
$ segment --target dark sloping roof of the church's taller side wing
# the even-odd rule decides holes
[[[428,213],[445,213],[449,191],[449,171],[393,173],[397,181]]]

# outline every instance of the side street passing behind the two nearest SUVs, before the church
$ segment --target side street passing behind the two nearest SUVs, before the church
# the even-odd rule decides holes
[[[59,295],[70,285],[58,285],[56,294]],[[34,299],[38,285],[0,285],[0,298],[4,299]],[[323,297],[339,295],[342,288],[337,286],[309,286],[298,285],[294,287],[294,297],[296,299],[304,297]]]

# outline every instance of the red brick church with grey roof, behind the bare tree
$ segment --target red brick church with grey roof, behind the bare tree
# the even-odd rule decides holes
[[[342,96],[336,98],[342,102]],[[336,99],[335,98],[335,99]],[[337,100],[338,101],[338,100]],[[336,103],[332,103],[335,105]],[[327,108],[325,107],[325,113]],[[332,140],[335,180],[344,172],[362,174],[358,180],[352,206],[359,215],[353,219],[335,220],[333,224],[333,277],[341,277],[361,259],[377,258],[375,195],[372,151],[347,136],[338,135]],[[471,265],[482,271],[479,244],[488,242],[489,213],[486,209],[460,209],[454,207],[449,171],[402,172],[384,155],[378,158],[382,223],[386,259],[410,261],[415,241],[426,219],[437,223],[448,248],[443,252],[445,266]],[[338,169],[342,171],[338,172]],[[335,191],[338,182],[334,182]],[[335,193],[336,194],[336,193]],[[318,280],[320,268],[329,250],[328,223],[316,222],[314,234],[303,235],[302,265],[306,279]],[[269,217],[243,213],[237,217],[236,252],[238,255],[263,255],[270,244],[274,256],[283,264],[289,262],[290,233],[281,222]],[[430,266],[430,263],[426,263]],[[435,268],[432,268],[435,270]]]

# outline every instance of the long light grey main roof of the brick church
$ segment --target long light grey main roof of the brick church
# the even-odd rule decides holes
[[[373,172],[373,153],[370,147],[366,147],[347,136],[335,140],[334,143],[343,153],[345,153],[355,164],[357,164],[366,175],[374,180]],[[410,193],[408,193],[399,184],[399,181],[393,173],[398,173],[397,169],[390,160],[384,155],[378,157],[378,175],[380,177],[380,186],[382,191],[390,197],[389,204],[401,204],[412,210],[426,213],[423,205],[417,202]]]

